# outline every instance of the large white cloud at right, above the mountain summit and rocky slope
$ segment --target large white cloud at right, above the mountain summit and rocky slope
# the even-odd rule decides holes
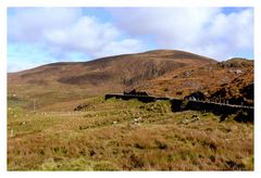
[[[109,11],[120,28],[132,35],[153,35],[160,48],[188,50],[217,60],[253,49],[252,9],[228,14],[219,8],[115,8]]]

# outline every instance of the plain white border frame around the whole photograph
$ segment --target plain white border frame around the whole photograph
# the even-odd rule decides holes
[[[261,101],[258,101],[260,94],[261,79],[261,4],[259,0],[2,0],[0,2],[0,176],[16,177],[16,176],[104,176],[104,173],[14,173],[7,171],[7,9],[11,7],[251,7],[254,8],[254,96],[256,96],[256,112],[254,112],[254,171],[169,171],[169,173],[107,173],[108,176],[200,176],[200,177],[220,177],[220,176],[237,176],[237,177],[256,177],[261,171]],[[148,175],[149,174],[149,175]],[[192,174],[192,175],[191,175]]]

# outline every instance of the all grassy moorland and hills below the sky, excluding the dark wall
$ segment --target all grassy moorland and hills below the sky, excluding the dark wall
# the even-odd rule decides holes
[[[10,73],[8,169],[253,170],[253,122],[104,100],[133,89],[253,106],[253,60],[156,50]]]

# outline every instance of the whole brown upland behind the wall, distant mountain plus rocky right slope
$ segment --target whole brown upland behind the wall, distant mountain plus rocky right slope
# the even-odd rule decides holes
[[[177,50],[154,50],[42,65],[8,74],[9,103],[37,110],[71,110],[90,96],[136,89],[158,97],[253,105],[253,60],[213,59]]]

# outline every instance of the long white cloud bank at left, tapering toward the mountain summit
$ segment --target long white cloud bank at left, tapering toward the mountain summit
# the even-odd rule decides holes
[[[72,52],[100,58],[142,50],[141,41],[122,36],[113,24],[86,16],[80,9],[18,9],[9,18],[10,42],[41,43],[60,58]]]

